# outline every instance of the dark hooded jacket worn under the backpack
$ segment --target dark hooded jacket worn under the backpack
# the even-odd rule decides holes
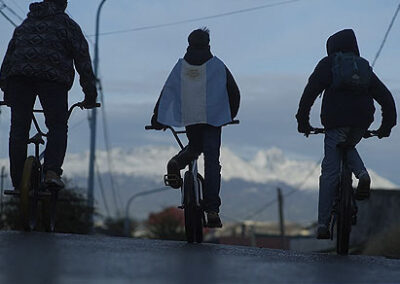
[[[368,128],[374,120],[374,100],[382,107],[382,127],[391,129],[396,125],[396,108],[390,91],[373,73],[367,92],[332,88],[332,64],[337,52],[360,52],[353,30],[343,30],[327,41],[328,56],[323,58],[311,74],[300,100],[296,118],[299,125],[309,123],[310,109],[319,94],[324,92],[321,107],[321,122],[325,128]]]

